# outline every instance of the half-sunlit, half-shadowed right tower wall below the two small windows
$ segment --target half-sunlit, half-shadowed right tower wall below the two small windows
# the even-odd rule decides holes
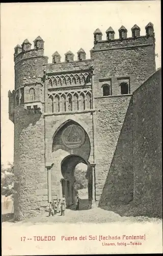
[[[132,102],[130,96],[96,99],[96,200],[126,203],[132,200]]]

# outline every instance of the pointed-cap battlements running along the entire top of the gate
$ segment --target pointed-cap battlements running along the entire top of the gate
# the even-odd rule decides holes
[[[91,49],[92,51],[100,51],[100,50],[110,50],[110,49],[119,49],[123,47],[139,47],[142,45],[153,44],[155,42],[154,39],[154,29],[153,24],[149,22],[145,27],[146,34],[140,35],[140,27],[135,24],[131,28],[132,36],[127,37],[127,29],[122,25],[119,32],[119,38],[115,39],[115,31],[112,27],[109,27],[106,33],[106,39],[102,40],[102,32],[99,28],[94,31],[94,47]],[[28,39],[25,39],[22,42],[22,45],[17,45],[15,47],[14,53],[14,61],[15,64],[19,62],[21,59],[35,58],[35,57],[44,57],[44,40],[38,36],[34,40],[34,49],[31,49],[32,44]],[[44,57],[45,62],[47,63],[48,57]],[[92,56],[91,56],[92,59]],[[85,61],[86,52],[83,48],[80,48],[77,51],[77,61]],[[62,63],[74,62],[74,54],[70,50],[65,53],[65,61]],[[52,64],[61,63],[61,55],[56,51],[52,54]]]

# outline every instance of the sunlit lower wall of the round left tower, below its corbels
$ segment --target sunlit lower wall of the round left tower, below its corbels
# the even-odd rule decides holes
[[[44,160],[44,119],[26,114],[23,106],[14,113],[14,218],[36,216],[47,201],[47,171]]]

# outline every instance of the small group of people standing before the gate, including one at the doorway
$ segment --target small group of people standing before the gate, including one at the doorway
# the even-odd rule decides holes
[[[75,205],[76,205],[76,210],[79,210],[79,197],[78,194],[75,197]],[[61,216],[65,216],[65,210],[66,210],[66,198],[63,196],[62,199],[59,199],[57,201],[51,201],[48,205],[48,212],[49,212],[49,217],[55,216],[58,213],[61,213]]]

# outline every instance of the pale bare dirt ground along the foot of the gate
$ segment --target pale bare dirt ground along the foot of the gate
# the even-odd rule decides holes
[[[13,214],[7,214],[2,216],[3,222],[13,222]],[[6,218],[5,218],[6,217]],[[21,222],[15,222],[14,225],[29,224],[41,224],[41,223],[161,223],[162,220],[158,218],[148,218],[144,216],[138,217],[126,217],[116,214],[114,211],[103,210],[99,207],[88,210],[73,210],[66,209],[65,216],[61,216],[59,213],[56,216],[48,217],[48,212],[37,217],[26,219]],[[5,223],[3,223],[5,225]]]

